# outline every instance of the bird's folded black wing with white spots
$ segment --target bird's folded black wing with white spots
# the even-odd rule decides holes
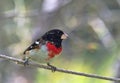
[[[34,43],[32,43],[24,52],[23,54],[26,54],[26,52],[29,52],[30,50],[33,50],[33,49],[39,49],[41,45],[45,44],[45,40],[43,40],[42,38],[41,39],[38,39],[36,40]]]

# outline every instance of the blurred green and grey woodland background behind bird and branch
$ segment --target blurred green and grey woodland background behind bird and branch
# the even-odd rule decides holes
[[[0,0],[0,54],[21,58],[58,28],[69,38],[56,67],[120,77],[120,0]],[[17,65],[0,59],[0,83],[119,83]]]

